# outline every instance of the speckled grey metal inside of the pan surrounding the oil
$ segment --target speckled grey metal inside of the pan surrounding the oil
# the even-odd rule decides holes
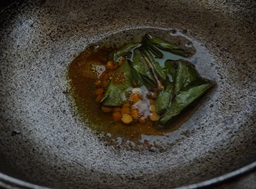
[[[51,188],[175,188],[254,162],[255,4],[55,0],[3,10],[0,171]],[[198,61],[198,72],[218,83],[184,124],[193,132],[163,153],[104,144],[68,97],[68,64],[88,43],[140,28],[191,38],[211,54],[210,62]]]

